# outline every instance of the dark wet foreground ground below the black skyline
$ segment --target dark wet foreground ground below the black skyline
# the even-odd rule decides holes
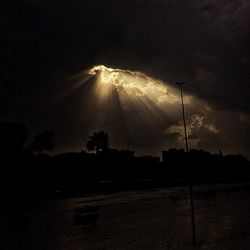
[[[197,245],[189,188],[5,202],[0,249],[250,249],[250,184],[194,186]]]

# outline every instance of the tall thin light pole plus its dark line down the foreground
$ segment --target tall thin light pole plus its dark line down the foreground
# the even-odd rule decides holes
[[[181,91],[181,106],[182,106],[182,117],[184,124],[184,133],[185,133],[185,144],[186,144],[186,152],[188,153],[188,137],[187,137],[187,125],[186,125],[186,115],[185,115],[185,107],[183,101],[183,85],[185,82],[177,82],[176,83],[180,87]],[[196,245],[196,232],[195,232],[195,220],[194,220],[194,202],[193,202],[193,185],[192,182],[189,185],[189,197],[190,197],[190,210],[191,210],[191,223],[192,223],[192,238],[193,244]]]

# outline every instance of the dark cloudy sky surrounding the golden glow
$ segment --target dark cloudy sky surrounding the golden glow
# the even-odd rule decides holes
[[[2,1],[0,27],[0,118],[53,129],[58,151],[80,150],[103,128],[115,146],[141,153],[180,147],[176,114],[157,133],[134,116],[126,127],[110,103],[108,125],[99,127],[107,111],[93,104],[91,83],[72,86],[76,75],[103,64],[169,86],[187,81],[187,95],[197,99],[189,125],[197,117],[205,124],[192,136],[205,149],[250,155],[250,0]],[[212,125],[218,133],[207,131]]]

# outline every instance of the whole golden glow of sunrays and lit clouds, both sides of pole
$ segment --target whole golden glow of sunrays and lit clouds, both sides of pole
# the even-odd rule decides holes
[[[89,98],[99,110],[97,117],[100,126],[107,127],[111,120],[113,124],[122,122],[126,124],[127,134],[129,128],[138,130],[143,126],[144,134],[150,135],[151,138],[156,138],[159,134],[164,136],[165,133],[170,138],[169,143],[173,136],[177,143],[182,145],[184,135],[180,91],[177,86],[140,71],[110,68],[104,65],[89,69],[87,77],[91,78],[93,88],[89,96],[92,96],[92,99]],[[205,101],[185,93],[184,103],[187,108],[189,141],[191,146],[196,147],[199,142],[196,134],[214,135],[215,130],[216,132],[219,130],[217,125],[211,122],[210,116],[213,110],[207,109],[208,104]],[[199,117],[202,117],[202,120],[198,120]],[[136,124],[139,124],[138,127]],[[125,129],[124,126],[118,127]]]

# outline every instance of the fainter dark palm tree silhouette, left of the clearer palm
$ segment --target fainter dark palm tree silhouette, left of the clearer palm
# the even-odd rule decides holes
[[[39,132],[31,142],[29,149],[41,155],[43,151],[50,151],[54,148],[54,133],[50,130]]]

